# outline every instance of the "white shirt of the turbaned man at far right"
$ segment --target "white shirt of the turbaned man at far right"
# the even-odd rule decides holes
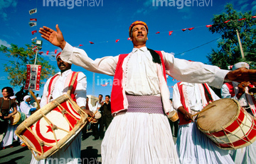
[[[236,97],[236,95],[238,94],[238,85],[239,83],[236,81],[232,81],[234,90],[235,90],[235,96],[231,97],[231,94],[229,92],[229,88],[228,86],[224,83],[222,88],[221,88],[221,98],[233,98],[234,100],[238,100],[238,98]],[[238,102],[240,103],[240,105],[242,107],[246,107],[249,106],[247,100],[246,100],[246,96],[245,94],[242,94],[241,98],[238,100]]]

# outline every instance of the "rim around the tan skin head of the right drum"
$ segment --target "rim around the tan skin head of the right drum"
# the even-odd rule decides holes
[[[240,106],[238,100],[234,100],[233,98],[222,98],[222,99],[219,99],[219,100],[223,100],[223,99],[225,99],[225,100],[227,100],[227,99],[233,100],[233,101],[236,103],[236,105],[238,105],[238,109],[241,108],[241,106]],[[219,100],[215,100],[215,101],[219,101]],[[207,107],[207,105],[206,105],[206,107]],[[230,124],[232,124],[232,123],[235,121],[235,118],[237,118],[237,117],[240,115],[240,112],[241,112],[241,110],[238,110],[238,112],[236,113],[236,115],[234,115],[234,116],[232,117],[232,119],[230,119],[230,122],[228,122],[228,124],[225,124],[225,125],[223,126],[223,128],[225,129],[225,128],[229,127]],[[199,116],[200,116],[200,114],[198,115],[198,117],[199,117]],[[198,129],[201,130],[203,133],[210,133],[210,134],[211,134],[211,133],[215,133],[215,132],[218,132],[218,131],[223,130],[223,129],[221,129],[221,127],[220,127],[220,129],[216,129],[216,130],[212,130],[212,131],[202,129],[202,128],[199,126],[199,124],[198,124],[197,121],[196,121],[196,125],[197,125]]]

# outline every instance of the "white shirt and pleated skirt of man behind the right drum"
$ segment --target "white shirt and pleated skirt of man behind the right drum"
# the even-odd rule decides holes
[[[180,85],[186,86],[183,87],[185,88],[183,95],[188,109],[201,111],[207,104],[202,84],[181,82]],[[210,87],[208,88],[213,100],[220,99]],[[176,110],[183,106],[177,83],[174,85],[173,105]],[[196,123],[193,122],[178,127],[176,148],[181,163],[233,163],[228,151],[215,146],[213,141],[199,131]]]

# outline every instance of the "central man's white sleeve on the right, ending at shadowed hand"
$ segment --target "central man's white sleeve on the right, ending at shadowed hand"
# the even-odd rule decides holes
[[[178,81],[188,83],[208,83],[215,88],[221,88],[228,70],[219,69],[201,62],[177,59],[173,54],[162,52],[166,74]]]

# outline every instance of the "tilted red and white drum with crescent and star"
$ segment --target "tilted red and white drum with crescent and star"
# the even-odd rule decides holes
[[[28,117],[15,133],[41,160],[75,139],[86,122],[87,114],[69,95],[62,95]]]

